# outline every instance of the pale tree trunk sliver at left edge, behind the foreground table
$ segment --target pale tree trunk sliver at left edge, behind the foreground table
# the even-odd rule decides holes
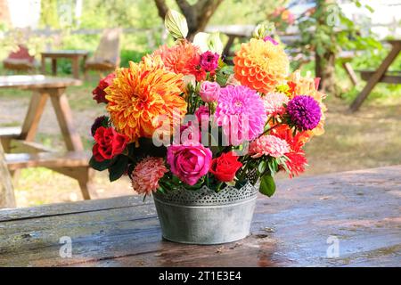
[[[12,178],[4,159],[3,145],[0,143],[0,208],[14,208],[15,198]]]

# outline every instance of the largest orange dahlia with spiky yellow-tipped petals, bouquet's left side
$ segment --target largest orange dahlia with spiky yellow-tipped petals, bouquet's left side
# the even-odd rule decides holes
[[[167,116],[171,127],[174,112],[184,117],[183,90],[182,75],[166,70],[160,56],[146,56],[116,71],[116,78],[105,90],[107,110],[119,133],[137,142],[140,137],[151,137],[161,124],[159,116]]]

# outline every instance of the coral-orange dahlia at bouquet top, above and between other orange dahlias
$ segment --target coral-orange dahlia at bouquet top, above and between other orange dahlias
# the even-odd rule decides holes
[[[152,56],[160,55],[166,69],[176,74],[192,75],[197,81],[206,78],[206,71],[201,69],[201,50],[188,41],[180,41],[172,47],[160,46]]]

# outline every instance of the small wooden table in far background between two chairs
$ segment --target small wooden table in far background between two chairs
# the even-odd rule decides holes
[[[64,50],[64,51],[50,51],[42,54],[42,73],[45,74],[46,58],[52,59],[52,74],[57,75],[57,59],[70,59],[72,61],[72,75],[74,78],[79,79],[79,59],[82,58],[85,64],[87,54],[86,51],[80,50]]]

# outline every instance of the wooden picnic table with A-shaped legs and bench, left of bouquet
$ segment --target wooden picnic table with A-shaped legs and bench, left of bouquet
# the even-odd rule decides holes
[[[73,78],[43,75],[0,77],[0,92],[5,88],[33,91],[22,126],[0,128],[0,142],[4,147],[5,163],[12,174],[23,167],[47,167],[77,179],[84,198],[90,199],[93,171],[88,166],[89,154],[84,151],[65,94],[68,86],[81,84],[81,81]],[[64,152],[54,152],[34,142],[37,126],[49,98],[66,144],[67,151]]]

